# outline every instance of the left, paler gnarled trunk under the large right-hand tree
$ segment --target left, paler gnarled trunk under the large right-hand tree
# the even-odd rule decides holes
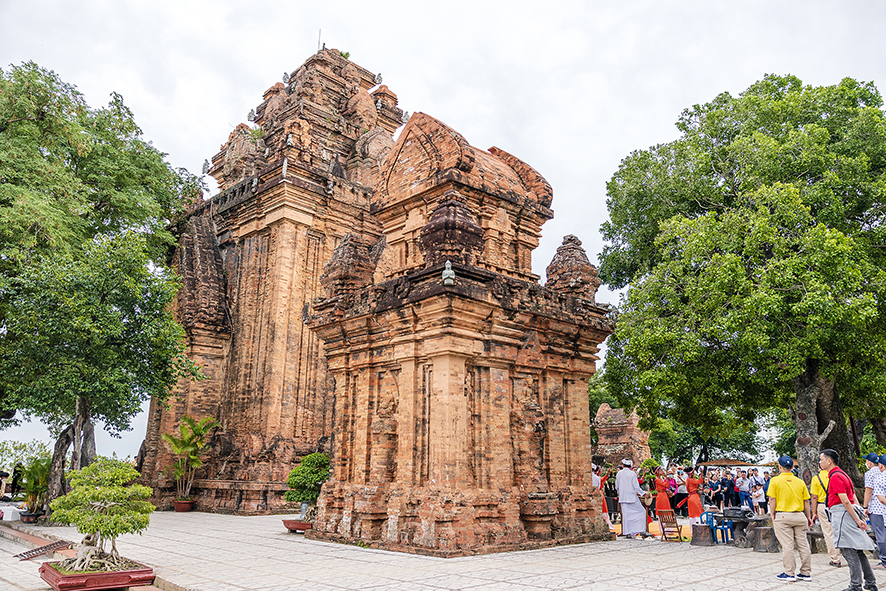
[[[792,383],[797,396],[797,402],[791,409],[791,418],[797,425],[797,440],[794,446],[800,463],[800,477],[806,484],[810,484],[813,475],[819,472],[819,446],[835,427],[835,421],[830,421],[823,433],[818,432],[816,407],[820,398],[833,396],[834,381],[824,377],[817,365],[810,362],[806,366],[806,371],[794,378]]]

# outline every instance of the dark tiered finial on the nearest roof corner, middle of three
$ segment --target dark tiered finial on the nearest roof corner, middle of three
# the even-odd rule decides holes
[[[418,239],[427,266],[443,261],[472,265],[483,248],[483,229],[477,224],[464,198],[446,191],[431,212]]]

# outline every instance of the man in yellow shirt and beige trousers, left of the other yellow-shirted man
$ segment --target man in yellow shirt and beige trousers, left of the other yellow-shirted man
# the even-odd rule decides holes
[[[781,544],[781,560],[784,572],[775,578],[779,581],[809,581],[812,579],[812,552],[806,539],[806,530],[812,525],[809,511],[809,490],[806,483],[791,474],[794,461],[788,456],[778,458],[780,474],[769,481],[769,511],[772,514],[772,530]],[[800,553],[800,572],[794,576],[797,563],[794,546]]]

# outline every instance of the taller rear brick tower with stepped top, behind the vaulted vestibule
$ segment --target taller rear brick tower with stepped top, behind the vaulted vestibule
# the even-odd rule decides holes
[[[386,88],[369,95],[374,85],[321,51],[265,92],[258,131],[238,126],[213,157],[222,191],[180,224],[173,261],[184,278],[176,313],[207,379],[181,383],[168,409],[152,405],[142,469],[159,504],[174,492],[160,434],[185,413],[223,426],[194,489],[204,510],[281,509],[289,471],[330,450],[332,388],[304,318],[342,237],[381,235],[370,185],[402,111]]]

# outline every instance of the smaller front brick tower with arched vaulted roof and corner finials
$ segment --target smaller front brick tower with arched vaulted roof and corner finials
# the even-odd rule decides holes
[[[372,198],[383,235],[341,240],[308,319],[335,389],[312,537],[457,556],[608,535],[587,379],[614,322],[574,236],[547,287],[532,273],[551,198],[518,158],[409,120]]]

